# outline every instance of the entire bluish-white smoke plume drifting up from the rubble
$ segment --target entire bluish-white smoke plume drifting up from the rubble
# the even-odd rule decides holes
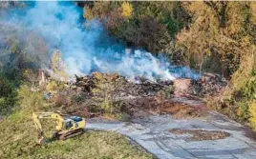
[[[13,11],[8,15],[2,19],[40,32],[53,50],[61,50],[70,75],[101,71],[117,72],[130,79],[137,76],[150,80],[173,80],[181,76],[198,78],[193,70],[176,70],[164,58],[149,52],[135,50],[127,53],[124,46],[106,35],[96,20],[87,22],[85,28],[82,9],[73,3],[36,2],[23,14]]]

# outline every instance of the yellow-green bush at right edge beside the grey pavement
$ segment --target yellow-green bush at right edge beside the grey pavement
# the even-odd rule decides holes
[[[256,129],[255,100],[256,100],[256,56],[251,48],[242,57],[240,68],[232,75],[228,87],[217,102],[211,106],[222,111],[232,119],[244,124],[250,124]]]

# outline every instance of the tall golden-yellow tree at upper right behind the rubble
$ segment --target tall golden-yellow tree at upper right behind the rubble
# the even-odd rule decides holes
[[[224,75],[231,75],[238,69],[241,57],[250,45],[252,36],[248,27],[252,15],[248,2],[191,2],[183,7],[194,18],[188,29],[177,36],[195,63],[209,66],[213,55],[219,58]],[[207,56],[206,56],[207,55]],[[199,59],[199,60],[197,60]],[[217,62],[218,62],[217,61]],[[219,63],[218,62],[218,63]]]

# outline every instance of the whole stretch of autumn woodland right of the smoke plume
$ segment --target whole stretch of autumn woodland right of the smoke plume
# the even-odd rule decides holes
[[[94,2],[84,9],[128,47],[230,79],[208,105],[256,128],[255,2]]]

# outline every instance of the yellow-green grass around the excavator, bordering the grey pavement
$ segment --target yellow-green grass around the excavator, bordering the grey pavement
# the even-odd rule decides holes
[[[26,89],[26,88],[25,88]],[[28,89],[28,88],[27,88]],[[21,91],[22,92],[22,91]],[[26,91],[24,91],[26,92]],[[28,94],[26,92],[25,94]],[[0,120],[0,158],[5,159],[150,159],[151,154],[130,145],[120,134],[87,130],[65,141],[45,146],[36,144],[37,133],[32,122],[34,109],[47,110],[38,94],[22,95],[20,109]],[[39,102],[37,101],[39,100]],[[26,106],[23,106],[26,104]],[[32,104],[37,104],[32,107]],[[41,105],[41,106],[40,106]],[[42,106],[44,105],[44,106]],[[45,121],[46,123],[49,121]]]

